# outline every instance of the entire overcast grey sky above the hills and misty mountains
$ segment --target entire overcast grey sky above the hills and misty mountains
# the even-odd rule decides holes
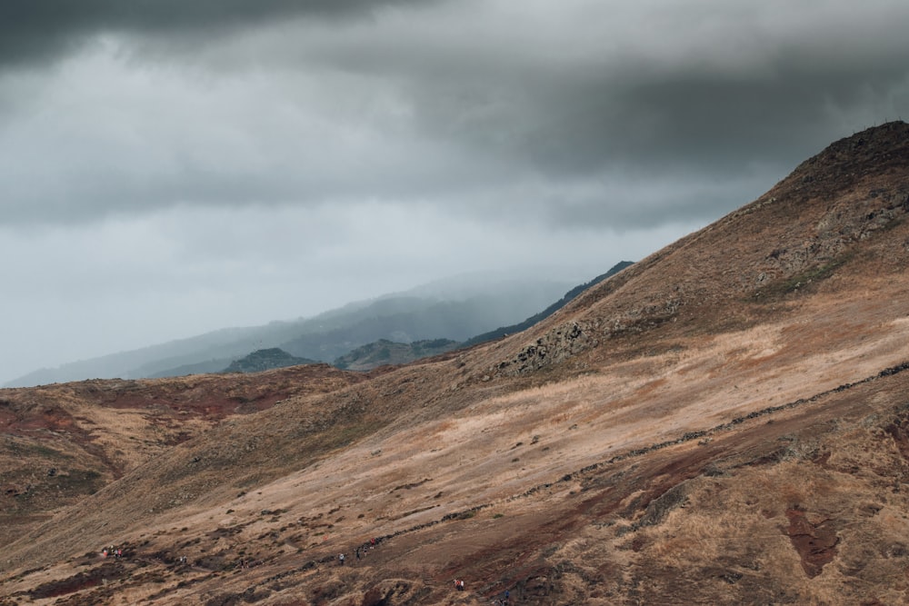
[[[0,383],[445,276],[585,282],[909,118],[904,0],[9,0]]]

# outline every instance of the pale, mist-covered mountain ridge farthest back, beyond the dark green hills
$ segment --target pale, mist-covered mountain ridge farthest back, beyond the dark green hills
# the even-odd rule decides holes
[[[278,347],[297,357],[331,362],[379,339],[464,341],[512,323],[551,303],[569,282],[502,274],[465,274],[407,293],[349,303],[313,318],[226,328],[188,339],[41,369],[8,382],[21,387],[88,378],[138,379],[217,373],[233,360]]]

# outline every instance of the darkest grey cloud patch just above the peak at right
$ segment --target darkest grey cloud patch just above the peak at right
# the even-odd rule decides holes
[[[553,176],[608,167],[722,174],[754,163],[792,166],[851,134],[850,127],[886,119],[888,105],[892,119],[896,107],[905,107],[909,37],[896,29],[879,35],[896,44],[861,60],[854,54],[862,40],[841,37],[837,48],[819,32],[785,48],[754,48],[753,59],[763,60],[734,71],[704,66],[699,55],[541,71],[510,91],[511,103],[499,105],[495,120],[511,126],[509,137],[493,120],[475,124],[473,135],[478,144],[526,155]],[[806,60],[811,55],[824,58]],[[439,106],[421,104],[428,111]],[[427,123],[443,124],[443,116]]]

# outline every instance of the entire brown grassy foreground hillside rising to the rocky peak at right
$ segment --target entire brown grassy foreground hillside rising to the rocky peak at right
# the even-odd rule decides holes
[[[0,391],[0,598],[907,603],[907,243],[884,124],[494,342]]]

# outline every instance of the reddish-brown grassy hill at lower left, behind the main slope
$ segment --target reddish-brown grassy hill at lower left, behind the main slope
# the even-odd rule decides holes
[[[0,390],[0,544],[228,416],[366,378],[319,364]]]

